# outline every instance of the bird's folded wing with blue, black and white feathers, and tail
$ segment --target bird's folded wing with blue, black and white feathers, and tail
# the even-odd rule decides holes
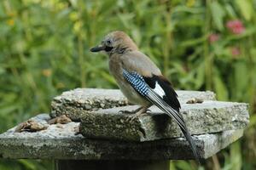
[[[136,65],[134,65],[134,60],[132,62],[127,60],[126,62],[123,62],[123,76],[125,77],[125,80],[131,84],[138,94],[141,94],[148,99],[152,104],[156,105],[160,110],[164,111],[177,122],[183,135],[191,146],[195,159],[200,162],[201,155],[195,146],[195,141],[192,139],[189,130],[186,127],[183,116],[179,113],[180,104],[177,100],[177,94],[172,89],[170,82],[166,81],[161,75],[154,75],[154,73],[152,73],[153,71],[150,72],[150,70],[148,70],[147,66],[142,68],[142,59],[135,60],[142,63],[138,64],[135,62]],[[154,67],[150,62],[148,65],[151,69]],[[155,69],[155,72],[157,72],[156,68],[153,68]],[[145,72],[147,74],[143,75]],[[148,72],[150,72],[150,74]]]

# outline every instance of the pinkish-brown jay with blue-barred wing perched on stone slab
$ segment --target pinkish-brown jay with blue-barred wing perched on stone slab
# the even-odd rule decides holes
[[[195,159],[201,161],[201,155],[195,146],[183,116],[179,113],[180,103],[171,82],[163,77],[160,69],[140,52],[135,42],[123,31],[110,32],[101,44],[90,49],[91,52],[103,51],[109,56],[109,70],[125,97],[136,105],[137,110],[130,111],[139,116],[151,105],[171,116],[188,140]],[[126,112],[126,111],[125,111]]]

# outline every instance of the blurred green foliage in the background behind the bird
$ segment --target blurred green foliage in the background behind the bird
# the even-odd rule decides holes
[[[250,104],[245,136],[208,159],[209,169],[256,167],[255,0],[2,0],[0,133],[49,112],[72,88],[117,88],[107,57],[89,48],[109,31],[126,31],[180,89],[212,90]],[[239,34],[227,22],[239,20]],[[209,39],[212,35],[218,40]],[[0,160],[0,169],[53,169],[51,161]],[[172,161],[172,169],[198,169]],[[201,168],[203,169],[203,168]]]

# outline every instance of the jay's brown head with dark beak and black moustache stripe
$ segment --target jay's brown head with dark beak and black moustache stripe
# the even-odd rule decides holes
[[[91,52],[106,52],[108,55],[137,50],[137,45],[123,31],[112,31],[103,38],[100,45],[90,48]]]

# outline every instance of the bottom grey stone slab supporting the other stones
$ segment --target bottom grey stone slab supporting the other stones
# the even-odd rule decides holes
[[[47,114],[33,120],[48,128],[35,133],[14,133],[15,127],[0,134],[0,157],[61,159],[61,160],[169,160],[193,159],[189,144],[183,138],[148,142],[125,142],[87,139],[75,135],[79,122],[52,124]],[[195,135],[195,144],[201,156],[214,155],[230,143],[241,138],[243,130]]]

